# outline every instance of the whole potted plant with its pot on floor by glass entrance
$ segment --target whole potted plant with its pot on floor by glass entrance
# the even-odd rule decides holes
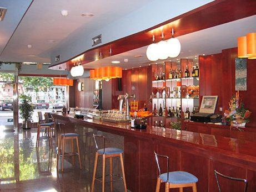
[[[31,105],[31,97],[27,95],[21,95],[21,105],[19,106],[20,115],[23,118],[22,128],[30,129],[31,128],[31,120],[33,115],[33,106]]]

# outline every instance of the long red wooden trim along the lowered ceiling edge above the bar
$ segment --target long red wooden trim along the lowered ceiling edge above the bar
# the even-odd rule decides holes
[[[198,7],[187,13],[181,14],[177,17],[167,20],[166,22],[155,25],[152,28],[143,30],[127,37],[109,42],[98,46],[97,48],[84,51],[84,60],[82,64],[94,61],[99,52],[102,52],[102,58],[109,56],[109,48],[112,47],[112,55],[124,53],[129,50],[137,49],[152,43],[152,34],[154,31],[155,41],[160,41],[160,30],[157,30],[162,25],[165,27],[165,39],[170,38],[170,28],[173,26],[175,30],[175,37],[180,35],[197,32],[198,30],[207,29],[216,25],[232,22],[234,20],[242,19],[256,14],[256,1],[254,0],[217,0]],[[174,24],[174,21],[177,24]],[[172,23],[173,22],[173,23]],[[79,54],[81,55],[81,54]],[[76,58],[78,55],[74,56]],[[71,59],[73,59],[71,58]],[[63,63],[52,64],[50,69],[58,69],[58,66],[66,67],[68,70],[72,66],[71,60]]]

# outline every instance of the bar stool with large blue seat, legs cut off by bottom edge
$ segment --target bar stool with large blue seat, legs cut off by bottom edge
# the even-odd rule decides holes
[[[182,192],[183,188],[192,186],[193,192],[197,192],[197,181],[198,178],[188,172],[176,171],[169,172],[169,157],[167,155],[160,155],[155,153],[155,160],[157,162],[157,168],[159,175],[157,178],[157,187],[155,192],[160,190],[160,184],[165,183],[165,192],[169,191],[170,188],[179,188]],[[158,157],[167,158],[167,173],[161,174]]]

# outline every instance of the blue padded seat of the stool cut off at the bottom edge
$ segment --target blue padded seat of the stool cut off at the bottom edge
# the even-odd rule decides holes
[[[167,173],[160,174],[159,178],[167,182]],[[172,184],[196,183],[197,181],[198,178],[188,172],[169,172],[169,183]]]

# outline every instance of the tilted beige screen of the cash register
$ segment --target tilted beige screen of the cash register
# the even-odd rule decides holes
[[[200,113],[214,113],[217,105],[218,96],[203,96]]]

